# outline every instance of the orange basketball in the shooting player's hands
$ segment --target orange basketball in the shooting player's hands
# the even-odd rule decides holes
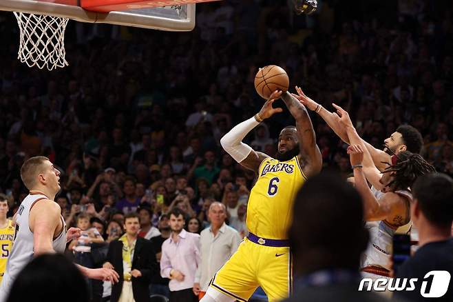
[[[255,76],[255,90],[263,99],[268,99],[275,90],[286,92],[288,87],[288,74],[279,66],[264,66]]]

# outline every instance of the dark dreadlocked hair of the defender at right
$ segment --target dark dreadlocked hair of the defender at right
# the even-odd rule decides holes
[[[407,190],[423,174],[436,172],[436,169],[425,161],[420,154],[414,154],[409,151],[400,152],[393,155],[392,165],[383,173],[393,173],[394,179],[388,185],[394,190]]]

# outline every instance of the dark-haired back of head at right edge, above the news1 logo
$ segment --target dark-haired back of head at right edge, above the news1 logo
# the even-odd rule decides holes
[[[450,230],[453,222],[453,180],[442,173],[426,174],[412,188],[423,215],[439,228]]]

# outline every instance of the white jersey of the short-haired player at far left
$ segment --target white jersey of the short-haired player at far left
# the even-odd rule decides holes
[[[29,216],[30,209],[41,199],[48,199],[42,194],[29,194],[23,199],[16,216],[16,232],[14,234],[14,243],[12,244],[11,254],[6,264],[6,272],[0,288],[0,302],[5,302],[8,292],[16,279],[17,275],[27,265],[33,257],[33,233],[30,231]],[[63,230],[59,236],[52,242],[52,247],[56,252],[63,253],[66,247],[66,224],[63,217]]]

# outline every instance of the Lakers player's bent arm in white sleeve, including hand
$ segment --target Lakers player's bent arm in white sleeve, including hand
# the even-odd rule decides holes
[[[235,161],[255,173],[258,172],[260,164],[268,156],[262,152],[255,152],[255,150],[253,150],[249,145],[242,143],[242,139],[244,139],[244,137],[259,123],[264,121],[264,119],[272,117],[273,114],[277,112],[282,112],[282,108],[272,107],[273,102],[280,98],[281,95],[281,91],[274,91],[271,94],[271,97],[269,97],[266,103],[264,103],[260,112],[255,114],[255,116],[251,119],[235,125],[233,129],[231,129],[224,135],[224,137],[222,137],[222,139],[220,139],[222,148],[224,148],[224,150],[227,151],[228,154],[235,159]]]

